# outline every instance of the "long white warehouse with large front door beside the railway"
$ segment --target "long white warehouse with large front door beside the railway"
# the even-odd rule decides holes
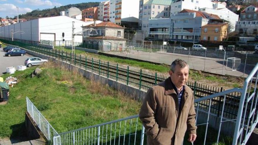
[[[74,22],[74,33],[82,31],[82,26],[93,24],[94,21],[80,21],[67,16],[55,16],[38,18],[22,23],[16,23],[0,27],[0,37],[12,38],[14,40],[27,40],[40,42],[40,40],[62,41],[62,33],[65,33],[65,41],[72,41],[72,22]],[[96,21],[101,23],[102,21]],[[74,42],[82,42],[82,35],[76,35]]]

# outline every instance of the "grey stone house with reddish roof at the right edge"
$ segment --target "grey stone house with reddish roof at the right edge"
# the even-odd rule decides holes
[[[258,34],[258,6],[247,6],[240,14],[240,21],[236,22],[236,32],[242,36]]]

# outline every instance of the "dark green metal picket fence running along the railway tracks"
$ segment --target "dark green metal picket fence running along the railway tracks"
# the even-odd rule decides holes
[[[78,54],[72,54],[70,52],[62,50],[47,49],[44,47],[32,45],[28,42],[15,42],[8,40],[1,41],[7,44],[16,45],[30,51],[53,57],[55,59],[73,64],[75,66],[79,66],[86,70],[97,73],[101,76],[105,76],[126,85],[133,86],[140,90],[147,90],[151,86],[164,81],[168,77],[162,74],[152,73],[144,71],[142,69],[135,69],[120,64],[105,62],[99,59],[89,58]],[[187,85],[193,90],[195,99],[224,91],[222,87],[211,87],[208,85],[197,83],[196,81],[188,81]],[[229,100],[228,102],[226,102],[226,105],[230,107],[224,108],[224,117],[231,119],[237,116],[237,108],[240,100],[240,95],[240,93],[231,93],[226,96]],[[218,116],[220,115],[222,110],[222,99],[223,96],[215,98],[212,101],[213,104],[211,106],[211,111]],[[208,110],[209,103],[207,101],[201,102],[199,105],[199,108],[201,108],[202,110]]]

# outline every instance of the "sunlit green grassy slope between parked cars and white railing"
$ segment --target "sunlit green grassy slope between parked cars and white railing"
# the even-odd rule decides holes
[[[26,96],[57,132],[135,115],[140,108],[140,102],[125,98],[106,86],[102,88],[105,94],[93,93],[89,80],[70,71],[52,67],[30,78],[33,69],[35,67],[12,75],[18,78],[18,83],[10,89],[8,103],[0,105],[0,137],[23,136]]]

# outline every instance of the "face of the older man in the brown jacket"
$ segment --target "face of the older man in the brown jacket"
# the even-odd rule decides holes
[[[173,71],[170,70],[169,75],[176,88],[181,89],[181,87],[184,86],[188,80],[189,68],[188,66],[181,68],[180,66],[176,65],[175,72],[173,73]]]

